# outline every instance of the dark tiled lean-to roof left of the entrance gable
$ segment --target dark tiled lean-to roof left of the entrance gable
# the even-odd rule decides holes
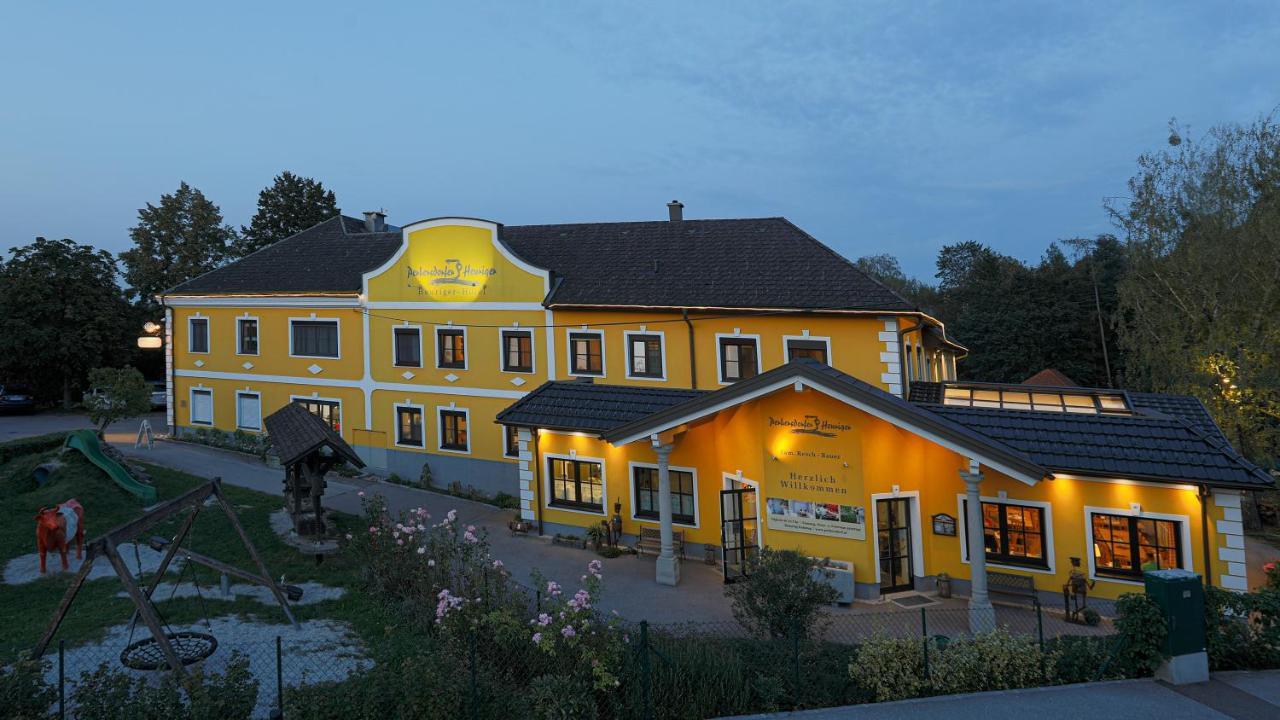
[[[705,395],[698,389],[547,382],[498,414],[498,423],[603,433]]]

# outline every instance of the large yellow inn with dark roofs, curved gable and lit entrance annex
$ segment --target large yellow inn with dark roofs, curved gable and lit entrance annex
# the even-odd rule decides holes
[[[1239,492],[1271,483],[1192,398],[956,382],[941,323],[781,218],[334,218],[163,301],[175,432],[301,402],[379,471],[654,536],[666,583],[767,544],[861,598],[1074,562],[1102,597],[1243,588]]]

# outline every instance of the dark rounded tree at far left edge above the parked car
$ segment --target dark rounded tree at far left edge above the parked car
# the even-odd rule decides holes
[[[90,368],[132,352],[132,309],[111,255],[70,240],[12,249],[0,266],[0,372],[70,406]]]

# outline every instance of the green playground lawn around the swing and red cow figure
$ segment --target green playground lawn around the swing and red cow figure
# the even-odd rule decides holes
[[[50,475],[50,482],[36,487],[31,470],[36,465],[58,459],[63,465]],[[186,489],[205,482],[201,478],[147,465],[160,500],[180,495]],[[253,541],[268,571],[274,579],[283,574],[289,583],[315,580],[333,587],[352,588],[356,585],[358,570],[340,555],[328,557],[316,564],[311,556],[305,556],[285,544],[270,528],[269,515],[283,506],[280,497],[260,493],[233,486],[224,486],[228,500],[234,505],[241,523]],[[35,514],[42,506],[51,506],[68,498],[76,498],[84,507],[86,541],[92,539],[110,528],[142,515],[140,502],[119,489],[96,466],[77,452],[59,455],[56,450],[22,455],[0,464],[0,562],[35,552]],[[146,536],[172,537],[184,516],[178,515],[155,528]],[[335,514],[334,520],[342,527],[351,525],[352,518]],[[142,542],[146,538],[140,538]],[[191,550],[212,556],[237,568],[253,570],[248,552],[241,544],[225,515],[216,507],[204,507],[197,516],[191,536],[184,543]],[[74,552],[74,551],[73,551]],[[105,562],[100,559],[99,562]],[[50,569],[60,566],[56,553],[49,556]],[[201,587],[216,587],[218,577],[212,570],[197,569]],[[177,573],[170,573],[170,580]],[[22,585],[0,585],[0,664],[13,660],[17,653],[29,650],[44,633],[54,610],[58,607],[72,573],[50,573],[49,577]],[[183,575],[183,582],[191,582],[191,574]],[[67,639],[68,647],[99,639],[102,632],[113,625],[127,623],[133,612],[128,598],[116,597],[122,589],[120,582],[111,578],[87,582],[76,598],[70,612],[59,629],[59,638]],[[206,593],[209,594],[209,593]],[[161,601],[160,611],[173,623],[195,621],[204,618],[198,598],[178,598]],[[260,621],[285,623],[278,607],[260,603],[250,598],[234,602],[210,601],[211,615],[252,615]],[[300,621],[315,618],[330,618],[351,621],[356,632],[366,637],[376,637],[381,632],[379,612],[371,611],[371,603],[361,593],[348,592],[342,600],[293,609]]]

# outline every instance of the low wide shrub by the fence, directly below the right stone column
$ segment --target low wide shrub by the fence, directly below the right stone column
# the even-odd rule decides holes
[[[919,655],[919,642],[915,646]],[[945,694],[1029,688],[1052,675],[1036,638],[1001,628],[950,643],[929,657],[933,689]]]

